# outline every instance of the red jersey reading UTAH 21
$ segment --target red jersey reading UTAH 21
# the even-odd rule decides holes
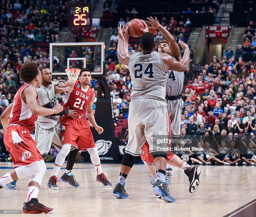
[[[85,116],[87,107],[92,101],[94,92],[89,86],[87,89],[84,89],[80,81],[76,81],[73,89],[74,90],[72,93],[69,92],[65,94],[63,109],[66,110],[66,108],[69,106],[70,109],[76,110],[78,112],[78,114],[76,114],[77,116]]]

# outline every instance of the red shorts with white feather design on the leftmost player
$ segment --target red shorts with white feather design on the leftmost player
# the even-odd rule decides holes
[[[11,153],[15,167],[29,166],[42,160],[36,148],[36,142],[26,127],[19,125],[8,126],[4,133],[4,144]]]

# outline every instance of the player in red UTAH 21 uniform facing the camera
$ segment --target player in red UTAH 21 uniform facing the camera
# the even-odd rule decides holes
[[[99,134],[102,134],[103,128],[97,125],[92,113],[95,96],[94,92],[89,87],[90,81],[91,71],[87,68],[83,68],[80,71],[79,80],[70,80],[65,83],[66,87],[69,86],[73,88],[73,91],[65,94],[63,109],[65,110],[69,107],[72,110],[76,110],[77,114],[75,118],[64,115],[60,119],[62,124],[62,147],[56,156],[55,162],[58,162],[58,165],[62,165],[72,148],[77,148],[79,151],[88,151],[92,164],[97,171],[96,181],[101,182],[104,187],[112,188],[112,184],[102,171],[100,157],[93,140],[90,124],[85,116],[87,114],[90,123]],[[74,179],[72,173],[73,165],[74,161],[69,162],[66,172],[60,179],[64,182],[68,182],[73,187],[78,187],[79,184]]]

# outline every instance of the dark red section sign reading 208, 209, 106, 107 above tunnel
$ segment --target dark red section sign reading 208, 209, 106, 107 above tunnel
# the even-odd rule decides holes
[[[205,37],[206,38],[227,38],[230,32],[231,26],[206,26]]]

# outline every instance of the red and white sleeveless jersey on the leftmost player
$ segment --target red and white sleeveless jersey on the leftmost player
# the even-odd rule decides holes
[[[23,102],[21,98],[22,91],[28,86],[31,86],[31,85],[29,84],[23,85],[17,91],[17,93],[13,98],[13,107],[10,114],[9,125],[18,124],[18,125],[27,127],[29,132],[32,133],[35,128],[35,122],[36,122],[37,116],[31,113],[28,105],[25,102]],[[37,103],[39,103],[38,94],[37,94]]]

